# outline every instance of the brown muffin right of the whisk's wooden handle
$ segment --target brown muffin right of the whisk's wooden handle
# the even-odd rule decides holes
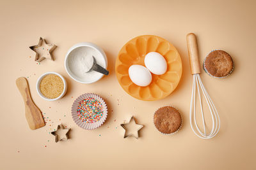
[[[204,71],[214,78],[225,78],[232,73],[234,62],[223,50],[214,50],[205,57]]]

